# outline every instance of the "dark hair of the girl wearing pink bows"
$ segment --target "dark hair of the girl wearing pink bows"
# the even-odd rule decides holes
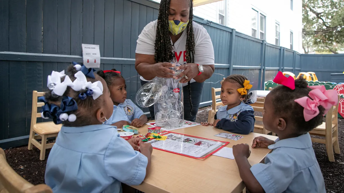
[[[319,126],[323,122],[324,107],[319,105],[319,114],[309,121],[305,121],[303,117],[303,107],[294,100],[303,96],[310,97],[308,94],[312,89],[308,87],[308,83],[303,77],[295,80],[295,89],[279,85],[270,91],[272,106],[274,113],[286,121],[287,124],[293,124],[297,129],[297,133],[304,134]]]

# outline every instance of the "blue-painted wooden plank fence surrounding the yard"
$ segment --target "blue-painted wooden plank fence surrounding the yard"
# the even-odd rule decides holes
[[[72,61],[82,62],[81,44],[98,44],[100,68],[116,68],[134,100],[140,79],[135,70],[136,40],[158,18],[149,0],[0,0],[0,147],[28,143],[32,91],[46,91],[47,76]],[[315,71],[319,80],[343,72],[344,55],[300,55],[287,48],[194,17],[211,36],[215,72],[206,80],[201,106],[211,104],[212,87],[230,74],[247,76],[262,89],[278,70]],[[148,112],[148,109],[144,109]]]

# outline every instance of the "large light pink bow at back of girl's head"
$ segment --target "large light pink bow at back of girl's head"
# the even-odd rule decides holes
[[[333,105],[338,104],[338,95],[336,90],[326,90],[325,86],[311,86],[309,97],[304,96],[294,101],[300,104],[303,109],[303,116],[305,121],[309,121],[319,114],[318,106],[321,105],[325,108],[325,115]],[[313,100],[312,100],[313,99]]]

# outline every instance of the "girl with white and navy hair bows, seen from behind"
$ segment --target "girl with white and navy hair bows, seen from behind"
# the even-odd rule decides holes
[[[139,138],[126,141],[115,126],[102,124],[112,114],[112,100],[92,68],[75,65],[68,72],[70,77],[63,78],[53,71],[50,90],[40,98],[45,102],[42,117],[63,124],[47,160],[45,183],[54,193],[119,193],[121,182],[141,184],[152,146]]]

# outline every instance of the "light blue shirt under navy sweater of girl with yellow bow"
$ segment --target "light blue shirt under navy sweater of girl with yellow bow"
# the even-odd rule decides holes
[[[253,111],[253,107],[241,102],[238,106],[235,106],[227,111],[227,105],[225,105],[218,109],[216,117],[217,119],[226,118],[231,121],[236,121],[239,114],[243,111]]]

